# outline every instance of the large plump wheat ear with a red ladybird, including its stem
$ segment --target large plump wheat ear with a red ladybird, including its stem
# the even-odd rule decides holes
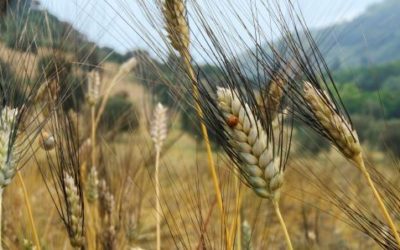
[[[283,185],[279,156],[274,155],[260,120],[235,91],[218,88],[217,100],[230,146],[238,156],[242,176],[257,195],[272,200],[287,245],[293,249],[278,203]],[[232,120],[235,123],[230,122]]]

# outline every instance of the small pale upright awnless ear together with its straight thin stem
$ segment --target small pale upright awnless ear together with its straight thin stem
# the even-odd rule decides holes
[[[150,129],[151,138],[156,149],[155,182],[156,182],[156,221],[157,221],[157,250],[161,249],[161,205],[160,205],[160,181],[159,165],[161,148],[167,137],[167,108],[158,103],[154,110],[154,117]]]

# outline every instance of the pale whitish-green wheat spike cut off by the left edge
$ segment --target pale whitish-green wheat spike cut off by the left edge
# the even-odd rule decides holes
[[[4,107],[0,111],[0,189],[11,183],[16,172],[16,157],[13,150],[13,133],[18,109]]]

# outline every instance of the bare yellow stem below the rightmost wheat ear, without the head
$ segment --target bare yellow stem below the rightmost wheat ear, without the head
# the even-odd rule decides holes
[[[392,233],[396,239],[397,245],[400,247],[400,237],[399,237],[399,233],[397,231],[397,228],[383,202],[383,199],[381,197],[381,195],[379,194],[378,190],[375,188],[375,184],[371,179],[371,176],[368,173],[367,168],[365,167],[365,163],[364,163],[364,159],[362,157],[362,154],[359,154],[355,159],[355,164],[357,165],[357,167],[361,170],[361,172],[363,173],[364,177],[367,179],[368,182],[368,186],[370,186],[370,188],[372,189],[372,193],[375,196],[376,201],[378,202],[379,205],[379,209],[381,210],[383,216],[385,217],[386,222],[389,224],[390,229],[392,230]]]

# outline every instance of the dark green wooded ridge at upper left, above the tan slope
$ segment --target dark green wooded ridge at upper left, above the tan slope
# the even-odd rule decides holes
[[[13,4],[14,3],[14,4]],[[85,34],[76,30],[70,23],[61,21],[57,16],[42,9],[39,2],[28,0],[11,1],[2,6],[0,15],[0,41],[7,47],[35,53],[39,47],[74,52],[82,55],[80,62],[112,60],[125,61],[126,58],[113,49],[99,47],[89,41]],[[76,46],[79,44],[79,47]]]

